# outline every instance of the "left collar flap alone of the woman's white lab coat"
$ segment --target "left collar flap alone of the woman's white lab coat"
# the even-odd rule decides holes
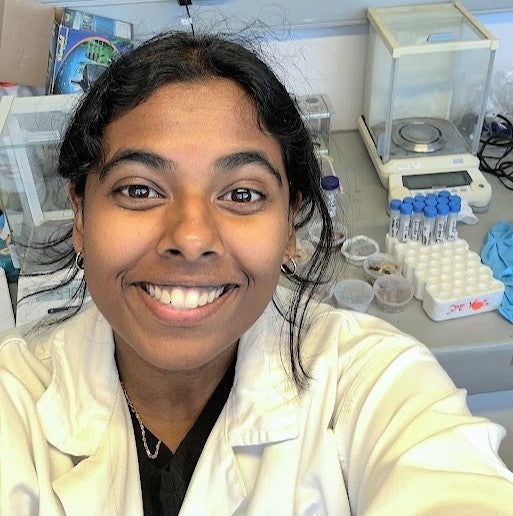
[[[119,388],[112,330],[90,304],[53,333],[53,376],[37,403],[48,442],[64,453],[96,452]]]

